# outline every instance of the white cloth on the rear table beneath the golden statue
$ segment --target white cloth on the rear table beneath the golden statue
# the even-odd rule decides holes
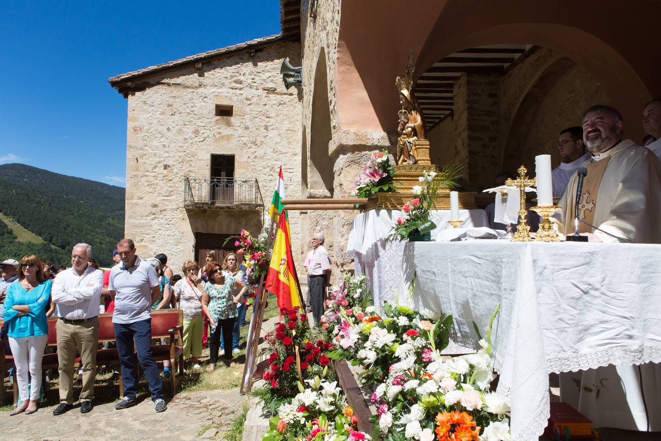
[[[374,305],[381,307],[383,301],[393,303],[395,290],[401,294],[402,255],[406,242],[386,241],[400,210],[369,210],[354,218],[349,234],[346,253],[354,257],[356,274],[365,274]],[[459,210],[462,227],[488,227],[485,210]],[[432,237],[441,231],[452,229],[447,223],[450,210],[434,210],[432,221],[436,228]]]

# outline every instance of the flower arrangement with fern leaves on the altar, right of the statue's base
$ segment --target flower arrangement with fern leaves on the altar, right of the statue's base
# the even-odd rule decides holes
[[[446,165],[436,173],[426,171],[418,178],[420,185],[412,187],[413,195],[416,196],[402,207],[401,216],[397,218],[388,239],[403,241],[406,239],[431,240],[429,234],[436,224],[431,220],[431,210],[441,187],[455,188],[459,186],[455,179],[459,176],[461,165]],[[420,237],[424,237],[424,239]]]

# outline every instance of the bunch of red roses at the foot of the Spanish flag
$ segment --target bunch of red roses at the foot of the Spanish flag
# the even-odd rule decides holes
[[[278,395],[291,395],[300,380],[328,374],[335,377],[334,370],[328,370],[331,360],[327,354],[333,344],[323,340],[309,341],[309,324],[307,315],[299,314],[299,307],[280,310],[280,322],[274,331],[264,339],[271,353],[268,357],[268,367],[262,374],[262,379]]]

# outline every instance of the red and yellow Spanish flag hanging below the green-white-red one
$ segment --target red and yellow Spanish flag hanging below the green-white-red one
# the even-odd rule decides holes
[[[266,275],[266,285],[264,286],[264,289],[276,295],[279,308],[292,309],[294,306],[301,306],[301,296],[296,277],[289,225],[286,212],[282,210],[278,221],[276,240],[273,243],[271,262]]]

